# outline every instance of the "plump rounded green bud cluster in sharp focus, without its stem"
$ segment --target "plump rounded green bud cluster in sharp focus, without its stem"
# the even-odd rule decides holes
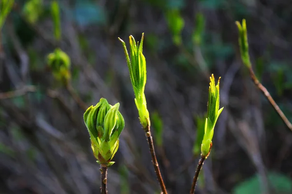
[[[110,162],[119,147],[119,136],[125,127],[125,121],[119,112],[119,103],[111,106],[105,98],[84,113],[84,122],[89,131],[94,157],[100,164]]]

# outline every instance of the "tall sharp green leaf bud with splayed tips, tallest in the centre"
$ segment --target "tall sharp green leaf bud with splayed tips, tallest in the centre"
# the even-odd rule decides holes
[[[124,47],[130,79],[135,93],[135,103],[139,112],[140,122],[143,128],[146,129],[147,126],[150,126],[150,120],[144,94],[146,84],[146,60],[142,53],[143,39],[144,33],[142,33],[140,44],[139,42],[135,42],[135,39],[132,35],[129,36],[131,56],[129,58],[126,44],[122,39],[119,38]]]

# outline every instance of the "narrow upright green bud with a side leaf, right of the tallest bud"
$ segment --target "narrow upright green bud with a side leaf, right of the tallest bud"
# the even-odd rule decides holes
[[[223,110],[223,107],[219,109],[219,83],[220,77],[217,82],[217,85],[215,85],[215,78],[214,75],[212,74],[212,77],[210,77],[208,111],[207,118],[205,121],[205,133],[201,144],[202,157],[208,157],[211,151],[214,128],[217,119]]]

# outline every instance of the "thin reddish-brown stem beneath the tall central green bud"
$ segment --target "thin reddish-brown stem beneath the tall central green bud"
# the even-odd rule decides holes
[[[165,185],[164,185],[164,181],[163,181],[163,178],[162,178],[160,170],[159,170],[159,165],[158,165],[158,162],[157,162],[157,159],[156,159],[154,145],[153,145],[153,139],[152,139],[151,131],[150,131],[150,126],[146,127],[145,135],[146,135],[146,138],[147,138],[147,141],[148,141],[149,150],[150,150],[151,157],[152,157],[153,167],[154,167],[158,182],[160,184],[160,188],[161,188],[162,194],[167,194],[167,191],[166,191],[166,188],[165,188]]]

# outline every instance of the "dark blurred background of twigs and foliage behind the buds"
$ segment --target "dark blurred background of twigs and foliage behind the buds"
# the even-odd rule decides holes
[[[139,40],[142,32],[147,106],[169,193],[189,192],[212,73],[221,76],[224,110],[197,193],[292,193],[292,131],[241,64],[235,25],[246,18],[256,75],[292,121],[292,1],[58,2],[60,43],[50,0],[16,0],[1,31],[1,194],[99,193],[99,166],[78,97],[86,106],[101,97],[121,104],[126,127],[109,169],[109,193],[159,193],[117,39],[128,45],[130,34]],[[47,68],[46,57],[57,47],[71,58],[71,90]]]

